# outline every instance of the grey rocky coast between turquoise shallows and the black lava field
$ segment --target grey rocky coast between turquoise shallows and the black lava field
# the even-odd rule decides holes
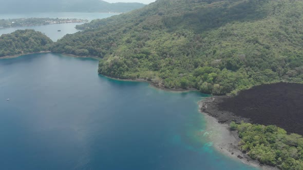
[[[277,167],[261,164],[257,160],[253,160],[247,154],[243,153],[238,143],[240,138],[236,131],[230,130],[230,122],[241,121],[250,122],[250,119],[236,116],[231,112],[221,111],[218,109],[218,103],[229,96],[213,96],[207,97],[199,101],[199,111],[204,115],[207,122],[206,131],[210,132],[209,138],[213,141],[213,146],[218,152],[223,153],[233,159],[238,159],[244,164],[251,165],[264,170],[277,170]]]

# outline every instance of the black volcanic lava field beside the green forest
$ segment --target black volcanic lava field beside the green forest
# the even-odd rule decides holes
[[[240,92],[235,97],[214,97],[202,111],[219,122],[274,124],[288,133],[303,135],[303,84],[279,82]]]

